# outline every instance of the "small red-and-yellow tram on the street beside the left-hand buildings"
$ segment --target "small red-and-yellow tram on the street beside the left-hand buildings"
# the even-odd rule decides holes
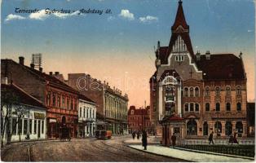
[[[96,139],[111,139],[112,131],[108,130],[108,123],[98,122],[96,124],[95,138]]]

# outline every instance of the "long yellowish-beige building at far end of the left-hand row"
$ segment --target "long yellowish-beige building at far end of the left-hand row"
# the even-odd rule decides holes
[[[69,73],[66,83],[95,101],[97,121],[107,121],[108,130],[112,130],[113,134],[127,132],[128,95],[122,95],[121,90],[112,89],[108,83],[85,73]]]

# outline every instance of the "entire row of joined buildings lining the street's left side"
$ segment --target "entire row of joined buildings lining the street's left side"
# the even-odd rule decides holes
[[[64,126],[71,137],[93,136],[96,121],[107,121],[113,134],[127,132],[128,96],[90,75],[71,73],[64,80],[24,65],[24,57],[19,63],[1,59],[1,88],[3,139],[8,133],[12,140],[59,138]]]

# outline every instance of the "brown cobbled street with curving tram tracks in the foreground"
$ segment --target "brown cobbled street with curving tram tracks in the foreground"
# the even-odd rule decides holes
[[[1,158],[2,161],[183,161],[126,147],[123,143],[126,139],[128,137],[12,143],[3,148]]]

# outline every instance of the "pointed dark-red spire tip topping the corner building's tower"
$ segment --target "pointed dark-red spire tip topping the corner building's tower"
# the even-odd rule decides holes
[[[189,26],[186,22],[186,19],[185,19],[184,12],[183,12],[182,3],[183,2],[179,1],[179,7],[178,7],[178,10],[176,13],[176,18],[175,18],[174,24],[171,29],[177,29],[177,27],[179,27],[179,25],[182,25],[184,29],[189,28]]]

